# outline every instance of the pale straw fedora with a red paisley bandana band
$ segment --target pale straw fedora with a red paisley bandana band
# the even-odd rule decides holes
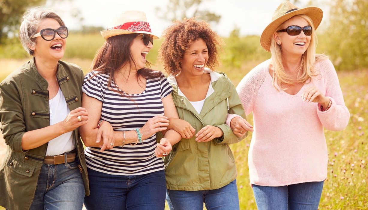
[[[134,33],[151,34],[153,39],[159,39],[159,36],[152,34],[146,14],[136,10],[123,11],[117,14],[112,18],[109,28],[105,31],[101,31],[101,35],[104,39],[116,35]]]

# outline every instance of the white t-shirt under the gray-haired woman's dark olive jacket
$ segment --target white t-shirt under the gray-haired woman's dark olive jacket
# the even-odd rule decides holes
[[[70,110],[68,108],[67,102],[65,101],[63,92],[59,88],[56,96],[49,100],[50,105],[50,125],[54,125],[58,122],[63,121],[69,114]],[[60,155],[65,152],[71,151],[75,148],[75,143],[73,141],[73,132],[68,132],[61,134],[49,141],[47,146],[46,155],[54,156]]]

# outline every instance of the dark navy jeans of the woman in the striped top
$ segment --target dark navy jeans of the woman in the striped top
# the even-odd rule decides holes
[[[164,170],[149,174],[111,175],[88,168],[90,195],[88,210],[164,210],[166,181]]]

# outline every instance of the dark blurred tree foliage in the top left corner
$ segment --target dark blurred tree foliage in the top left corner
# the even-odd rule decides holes
[[[20,18],[27,8],[44,3],[45,0],[0,0],[0,44],[10,32],[19,29]]]

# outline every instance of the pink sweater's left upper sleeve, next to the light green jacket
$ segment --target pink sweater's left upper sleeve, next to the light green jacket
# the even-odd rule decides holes
[[[249,115],[253,111],[258,89],[265,80],[265,69],[262,68],[265,65],[263,62],[252,69],[236,87],[245,115]]]

